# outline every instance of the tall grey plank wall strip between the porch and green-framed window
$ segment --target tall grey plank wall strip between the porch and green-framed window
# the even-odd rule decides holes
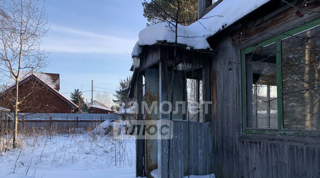
[[[241,66],[239,50],[232,38],[219,42],[216,59],[212,59],[212,130],[213,166],[217,177],[237,177],[238,138],[242,133]],[[214,81],[215,79],[215,81]]]

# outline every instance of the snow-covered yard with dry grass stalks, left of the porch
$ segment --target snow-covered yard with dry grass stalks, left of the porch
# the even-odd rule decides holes
[[[20,136],[21,145],[0,155],[0,177],[135,177],[135,140],[65,134]]]

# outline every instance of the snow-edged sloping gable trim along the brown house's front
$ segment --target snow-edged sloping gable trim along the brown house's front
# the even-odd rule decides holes
[[[46,82],[44,82],[42,79],[40,79],[38,77],[38,75],[35,74],[30,74],[26,77],[24,77],[22,80],[19,81],[19,86],[22,85],[23,83],[25,83],[26,81],[31,80],[32,78],[36,79],[37,81],[39,81],[41,84],[43,84],[45,87],[47,87],[49,90],[51,90],[54,94],[56,94],[57,96],[59,96],[61,99],[63,99],[65,102],[67,102],[70,106],[77,108],[78,106],[76,104],[74,104],[72,101],[70,101],[67,97],[63,96],[61,93],[59,93],[59,91],[57,91],[56,89],[54,89],[51,85],[47,84]],[[1,95],[11,91],[15,89],[15,85],[11,85],[9,86],[7,89],[5,89],[3,92],[1,92]]]

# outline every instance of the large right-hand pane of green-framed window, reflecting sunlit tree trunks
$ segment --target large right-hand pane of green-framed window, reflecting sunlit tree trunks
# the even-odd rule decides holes
[[[320,28],[282,42],[285,129],[320,130]]]

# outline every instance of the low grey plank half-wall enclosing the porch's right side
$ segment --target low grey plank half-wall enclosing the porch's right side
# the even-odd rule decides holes
[[[173,120],[169,177],[212,173],[212,124]],[[167,159],[161,157],[166,165]],[[159,168],[159,171],[162,171]],[[164,173],[164,172],[162,172]],[[162,177],[167,178],[166,174]]]

